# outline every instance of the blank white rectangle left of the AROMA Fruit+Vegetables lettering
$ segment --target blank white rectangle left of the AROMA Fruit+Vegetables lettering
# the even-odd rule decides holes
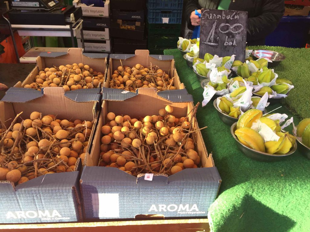
[[[94,217],[119,217],[118,193],[92,193]]]

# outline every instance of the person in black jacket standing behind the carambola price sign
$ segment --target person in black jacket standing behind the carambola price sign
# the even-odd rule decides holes
[[[217,9],[223,0],[189,0],[186,5],[188,28],[200,25],[195,10]],[[265,45],[265,38],[273,32],[284,14],[284,0],[231,0],[228,10],[247,11],[247,45]],[[201,13],[201,10],[199,10]]]

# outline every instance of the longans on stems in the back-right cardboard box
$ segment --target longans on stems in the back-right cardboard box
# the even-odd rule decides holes
[[[159,69],[157,66],[144,68],[136,64],[130,68],[119,66],[112,74],[109,87],[134,92],[137,88],[156,88],[159,91],[174,90],[174,78]]]

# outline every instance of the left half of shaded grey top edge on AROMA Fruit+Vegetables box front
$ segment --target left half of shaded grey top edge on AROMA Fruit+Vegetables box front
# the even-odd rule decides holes
[[[81,183],[94,182],[136,182],[137,178],[117,168],[105,167],[102,172],[102,167],[85,166],[82,171]]]

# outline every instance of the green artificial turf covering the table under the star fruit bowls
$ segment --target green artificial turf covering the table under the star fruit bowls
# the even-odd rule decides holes
[[[280,77],[290,79],[295,85],[284,103],[294,114],[310,118],[307,71],[310,50],[264,48],[286,55],[286,60],[275,67]],[[194,103],[201,102],[203,89],[179,50],[164,53],[174,55],[181,82],[193,95]],[[268,110],[279,106],[269,106]],[[300,121],[284,106],[276,112],[286,113],[289,118],[293,116],[296,124]],[[238,150],[230,126],[219,119],[212,102],[199,107],[197,120],[200,127],[208,126],[201,132],[222,178],[218,198],[209,208],[212,231],[310,231],[310,160],[299,151],[271,163],[246,157]],[[292,126],[286,129],[291,132]]]

